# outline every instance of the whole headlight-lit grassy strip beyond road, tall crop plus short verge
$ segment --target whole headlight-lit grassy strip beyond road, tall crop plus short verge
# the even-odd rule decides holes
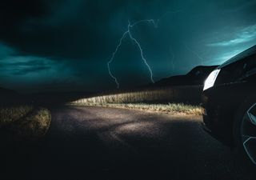
[[[170,114],[201,115],[202,110],[200,106],[198,106],[201,92],[201,86],[163,87],[154,90],[141,90],[81,98],[71,102],[70,105],[106,106],[150,110]]]

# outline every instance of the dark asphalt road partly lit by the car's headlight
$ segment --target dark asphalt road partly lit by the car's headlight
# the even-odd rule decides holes
[[[62,106],[37,146],[6,156],[18,179],[255,179],[201,117]]]

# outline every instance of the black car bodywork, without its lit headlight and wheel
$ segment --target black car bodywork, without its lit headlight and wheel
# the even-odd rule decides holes
[[[214,138],[234,146],[234,116],[242,102],[256,94],[256,46],[218,69],[214,86],[202,93],[203,126]]]

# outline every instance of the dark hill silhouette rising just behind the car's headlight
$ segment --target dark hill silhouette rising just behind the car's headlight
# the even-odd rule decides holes
[[[203,85],[207,76],[218,66],[196,66],[188,74],[163,78],[151,86]]]

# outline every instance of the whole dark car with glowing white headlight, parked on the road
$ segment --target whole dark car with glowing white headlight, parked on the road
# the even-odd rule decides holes
[[[256,165],[256,46],[210,73],[202,111],[204,129]]]

